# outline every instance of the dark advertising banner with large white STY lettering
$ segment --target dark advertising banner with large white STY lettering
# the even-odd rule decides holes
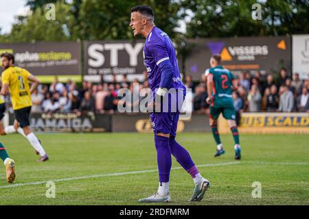
[[[145,70],[144,40],[84,42],[84,75],[135,75]]]

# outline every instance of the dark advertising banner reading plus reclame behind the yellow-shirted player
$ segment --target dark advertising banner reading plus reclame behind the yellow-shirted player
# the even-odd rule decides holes
[[[81,75],[78,42],[0,43],[4,52],[14,53],[16,66],[33,75]]]

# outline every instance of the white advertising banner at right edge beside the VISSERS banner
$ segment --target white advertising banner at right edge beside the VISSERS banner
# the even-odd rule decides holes
[[[293,35],[293,73],[309,79],[309,35]]]

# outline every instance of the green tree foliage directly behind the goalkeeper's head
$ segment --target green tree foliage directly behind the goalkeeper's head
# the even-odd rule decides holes
[[[134,5],[150,5],[155,11],[155,24],[175,36],[174,27],[178,25],[179,3],[170,0],[146,1],[91,1],[85,0],[80,8],[80,27],[76,34],[87,40],[133,39],[129,27],[130,9]]]

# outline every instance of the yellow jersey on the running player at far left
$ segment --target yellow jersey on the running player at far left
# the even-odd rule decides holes
[[[1,75],[2,86],[8,84],[13,110],[32,106],[28,77],[31,75],[24,68],[10,66]]]

